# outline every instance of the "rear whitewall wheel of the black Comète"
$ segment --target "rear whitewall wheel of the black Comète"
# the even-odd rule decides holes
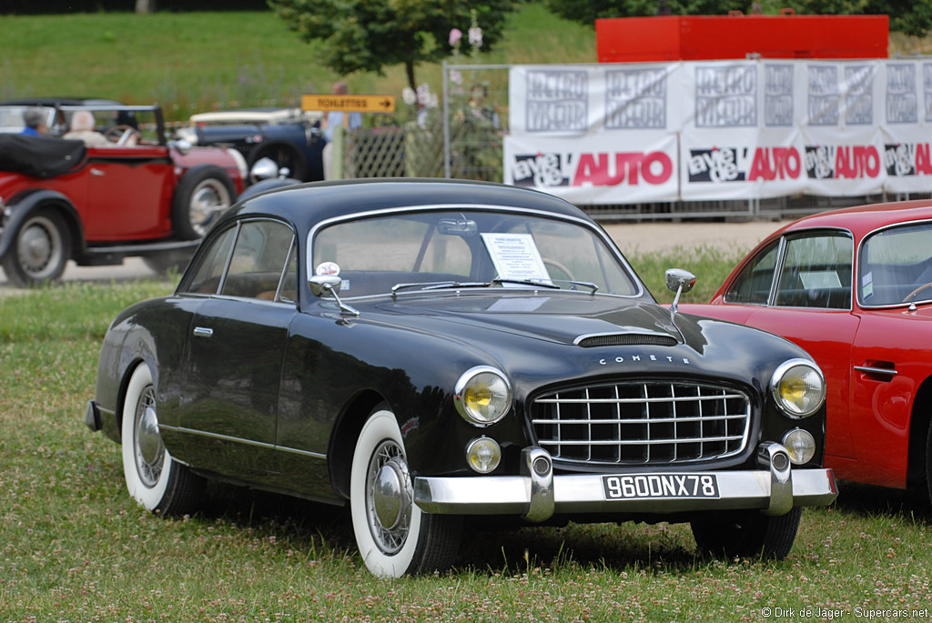
[[[132,498],[159,515],[197,510],[204,479],[171,458],[162,442],[152,372],[144,363],[130,377],[121,422],[123,476]]]

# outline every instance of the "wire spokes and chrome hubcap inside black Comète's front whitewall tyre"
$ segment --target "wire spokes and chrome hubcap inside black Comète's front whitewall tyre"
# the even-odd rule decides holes
[[[369,461],[366,515],[378,548],[393,554],[404,546],[411,526],[414,492],[401,448],[383,441]]]

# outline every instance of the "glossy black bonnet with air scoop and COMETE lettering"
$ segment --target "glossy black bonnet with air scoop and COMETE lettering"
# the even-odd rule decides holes
[[[731,322],[674,313],[643,299],[585,293],[399,296],[357,305],[360,321],[430,333],[445,343],[485,352],[506,369],[540,368],[559,360],[591,373],[603,360],[656,362],[656,371],[757,375],[791,358],[810,359],[787,340]],[[358,302],[362,304],[362,302]],[[371,306],[370,306],[371,305]],[[666,365],[668,364],[668,365]],[[569,371],[568,371],[569,372]]]

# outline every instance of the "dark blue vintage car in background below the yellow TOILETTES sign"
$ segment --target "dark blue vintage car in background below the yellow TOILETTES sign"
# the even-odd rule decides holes
[[[318,114],[319,115],[319,114]],[[196,145],[236,149],[250,168],[263,158],[274,161],[301,182],[323,179],[326,139],[319,118],[300,108],[243,108],[199,113],[179,138]]]

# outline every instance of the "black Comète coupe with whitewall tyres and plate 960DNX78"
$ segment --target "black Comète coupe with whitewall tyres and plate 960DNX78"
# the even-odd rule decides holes
[[[171,296],[113,321],[85,422],[145,508],[191,512],[207,480],[349,504],[401,576],[483,516],[690,521],[701,549],[783,557],[836,496],[824,396],[798,346],[656,305],[562,199],[358,181],[227,211]]]

